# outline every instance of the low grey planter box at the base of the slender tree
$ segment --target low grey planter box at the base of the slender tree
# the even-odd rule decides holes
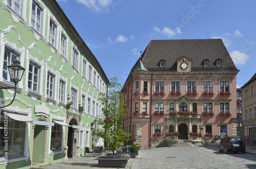
[[[130,157],[122,158],[104,158],[103,156],[96,158],[98,167],[125,167]]]

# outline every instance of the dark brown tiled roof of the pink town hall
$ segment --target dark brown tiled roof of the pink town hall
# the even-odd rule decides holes
[[[151,40],[141,60],[148,71],[177,71],[176,59],[183,56],[192,59],[191,71],[238,70],[222,39]],[[207,67],[205,59],[209,59]],[[221,59],[221,66],[216,65],[217,59]],[[165,61],[164,67],[160,67],[160,60]]]

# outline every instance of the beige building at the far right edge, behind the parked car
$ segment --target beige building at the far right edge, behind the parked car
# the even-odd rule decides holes
[[[256,137],[256,95],[254,94],[254,86],[256,86],[256,74],[241,87],[242,128],[246,142]]]

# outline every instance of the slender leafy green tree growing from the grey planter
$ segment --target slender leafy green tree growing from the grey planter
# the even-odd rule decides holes
[[[130,140],[131,134],[125,133],[121,128],[123,118],[126,116],[127,108],[123,93],[121,92],[121,84],[117,82],[117,78],[110,79],[107,84],[108,92],[100,93],[100,101],[103,105],[103,118],[99,119],[100,129],[94,130],[93,135],[103,138],[106,146],[113,152],[120,147],[122,142]]]

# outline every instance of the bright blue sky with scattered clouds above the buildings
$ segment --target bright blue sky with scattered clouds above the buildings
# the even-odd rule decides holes
[[[106,76],[125,83],[150,40],[222,38],[240,72],[256,73],[256,1],[57,0]]]

